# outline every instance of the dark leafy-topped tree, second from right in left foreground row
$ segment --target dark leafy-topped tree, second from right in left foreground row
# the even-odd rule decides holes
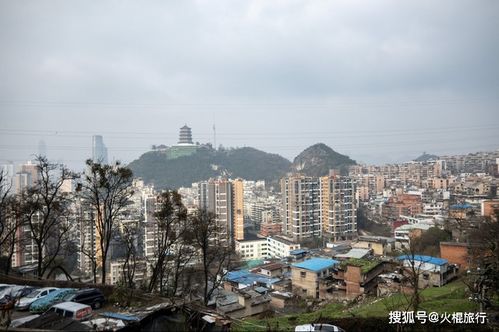
[[[171,257],[175,247],[183,246],[183,235],[185,234],[185,221],[187,220],[187,209],[182,203],[182,197],[176,191],[161,193],[156,200],[156,212],[154,213],[157,227],[157,239],[154,250],[154,260],[151,263],[152,275],[149,280],[148,289],[153,291],[159,285],[160,293],[164,292],[166,279],[166,265],[168,257]],[[178,253],[181,253],[180,250]],[[178,257],[179,264],[181,257]],[[176,278],[178,280],[178,276]],[[175,282],[177,283],[177,282]],[[175,285],[176,287],[176,285]]]

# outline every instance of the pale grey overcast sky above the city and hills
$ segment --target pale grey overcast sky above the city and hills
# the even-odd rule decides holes
[[[0,162],[201,143],[499,148],[499,1],[0,1]]]

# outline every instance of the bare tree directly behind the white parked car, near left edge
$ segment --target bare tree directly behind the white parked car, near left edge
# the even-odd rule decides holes
[[[64,165],[36,157],[38,179],[21,194],[23,221],[29,225],[30,239],[36,247],[37,275],[42,278],[67,244],[70,200],[61,190],[76,174]]]

